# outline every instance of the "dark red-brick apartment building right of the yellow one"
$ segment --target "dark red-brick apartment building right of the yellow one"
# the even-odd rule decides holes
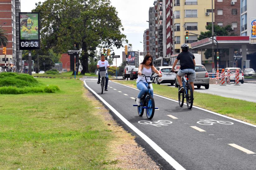
[[[211,12],[208,10],[206,12]],[[225,27],[231,25],[231,35],[240,35],[240,1],[215,0],[215,25]]]

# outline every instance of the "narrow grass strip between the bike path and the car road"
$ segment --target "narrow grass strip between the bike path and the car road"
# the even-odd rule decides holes
[[[136,80],[132,80],[132,81],[111,80],[111,81],[115,81],[117,83],[126,84],[131,87],[137,88]],[[158,85],[158,84],[154,84],[153,86],[154,86],[155,94],[165,96],[178,101],[177,88],[172,88],[169,86]],[[186,102],[186,99],[184,102]],[[256,103],[254,102],[194,92],[193,105],[256,125],[256,114],[255,114]]]

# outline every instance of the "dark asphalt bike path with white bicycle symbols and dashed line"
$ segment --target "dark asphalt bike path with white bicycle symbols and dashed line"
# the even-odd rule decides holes
[[[133,106],[138,90],[109,81],[101,94],[96,78],[84,82],[163,169],[255,169],[255,125],[194,106],[188,110],[158,95],[159,110],[148,120]]]

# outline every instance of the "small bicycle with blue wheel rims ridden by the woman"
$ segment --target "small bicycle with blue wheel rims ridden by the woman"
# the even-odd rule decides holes
[[[144,113],[144,109],[146,109],[146,115],[148,119],[152,119],[155,113],[155,109],[158,109],[155,107],[155,101],[154,98],[150,95],[150,84],[152,84],[155,80],[155,78],[159,77],[157,76],[146,76],[145,74],[142,74],[143,77],[145,77],[146,82],[148,83],[148,91],[147,94],[144,94],[142,98],[140,99],[140,106],[138,106],[138,114],[139,116],[142,116]],[[148,80],[147,77],[150,79]],[[136,99],[135,99],[136,101]]]

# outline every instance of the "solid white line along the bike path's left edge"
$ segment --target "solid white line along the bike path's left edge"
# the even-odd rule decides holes
[[[130,127],[135,133],[137,133],[145,142],[147,142],[160,156],[162,156],[173,168],[185,170],[176,160],[174,160],[170,155],[168,155],[162,148],[160,148],[154,141],[152,141],[148,136],[142,133],[137,127],[126,120],[118,111],[116,111],[110,104],[107,103],[100,95],[94,92],[85,81],[84,85],[91,91],[95,96],[97,96],[113,113],[115,113],[128,127]]]

